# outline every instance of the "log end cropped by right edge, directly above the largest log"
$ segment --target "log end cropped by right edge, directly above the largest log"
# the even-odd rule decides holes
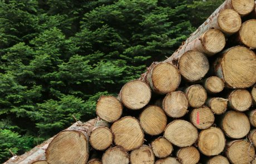
[[[256,48],[256,19],[250,19],[242,24],[239,30],[240,42],[250,48]]]

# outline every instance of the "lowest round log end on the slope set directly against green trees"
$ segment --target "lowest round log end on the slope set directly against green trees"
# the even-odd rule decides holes
[[[102,120],[114,122],[122,115],[122,104],[114,96],[101,96],[97,102],[96,114]]]

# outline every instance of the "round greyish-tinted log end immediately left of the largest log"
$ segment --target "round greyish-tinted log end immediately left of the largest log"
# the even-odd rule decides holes
[[[198,81],[209,71],[209,61],[199,51],[188,51],[179,59],[179,70],[187,81]]]

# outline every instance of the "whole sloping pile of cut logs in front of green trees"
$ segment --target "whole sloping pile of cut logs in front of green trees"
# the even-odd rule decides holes
[[[6,163],[252,163],[255,48],[254,0],[227,0],[171,57],[102,96],[97,118]]]

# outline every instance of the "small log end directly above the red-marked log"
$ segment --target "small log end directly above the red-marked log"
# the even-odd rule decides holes
[[[207,93],[203,86],[192,85],[185,89],[186,97],[188,97],[189,106],[199,108],[204,105],[207,99]]]

